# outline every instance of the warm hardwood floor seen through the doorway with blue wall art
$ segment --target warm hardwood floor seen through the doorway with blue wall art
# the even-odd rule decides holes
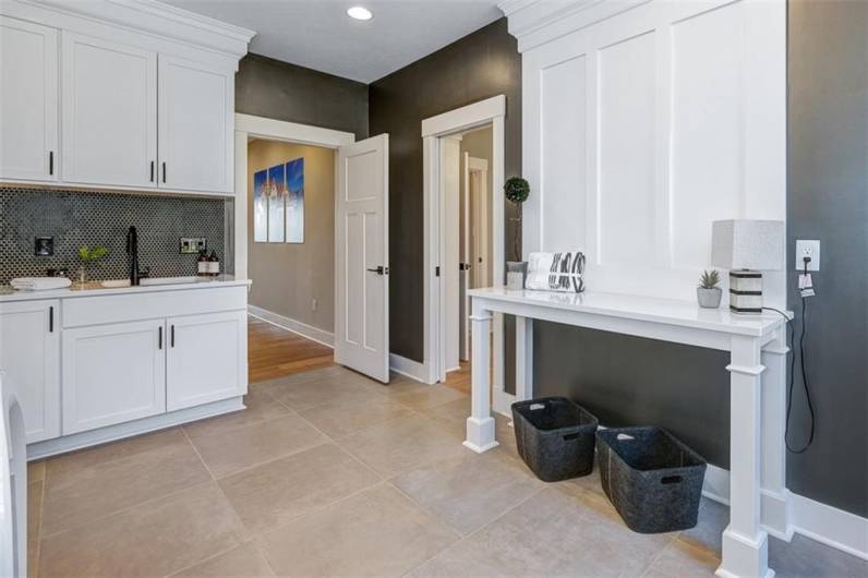
[[[256,317],[248,317],[248,375],[251,383],[333,365],[333,351]]]

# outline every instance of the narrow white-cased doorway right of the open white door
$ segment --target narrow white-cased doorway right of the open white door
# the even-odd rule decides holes
[[[424,371],[429,383],[447,374],[468,374],[472,288],[502,285],[504,249],[504,118],[506,98],[495,96],[422,121],[425,207]],[[461,143],[481,141],[481,152]],[[475,160],[471,160],[475,159]],[[482,162],[484,161],[484,162]],[[461,181],[471,195],[461,196]],[[484,189],[485,194],[477,194]],[[470,206],[462,209],[467,202]],[[475,203],[477,221],[473,220]],[[483,213],[483,204],[485,210]],[[462,227],[462,214],[466,225]],[[480,217],[485,216],[484,219]],[[475,244],[474,234],[475,232]],[[480,263],[482,258],[482,263]],[[475,270],[474,270],[475,269]],[[492,325],[492,396],[497,411],[508,410],[504,390],[503,316]]]

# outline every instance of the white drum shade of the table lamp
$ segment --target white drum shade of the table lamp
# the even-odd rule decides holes
[[[784,266],[784,222],[715,220],[711,224],[711,264],[731,270],[781,270]]]

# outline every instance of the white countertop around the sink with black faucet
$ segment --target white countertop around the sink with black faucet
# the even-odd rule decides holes
[[[142,279],[145,281],[145,279]],[[249,286],[250,279],[236,279],[232,275],[205,277],[155,277],[148,278],[154,285],[137,287],[103,287],[100,281],[89,281],[82,286],[73,281],[72,287],[49,291],[16,291],[9,285],[0,285],[0,303],[8,301],[34,301],[39,299],[72,299],[79,297],[110,296],[124,293],[148,293],[155,291],[184,291],[191,289],[214,289],[218,287]]]

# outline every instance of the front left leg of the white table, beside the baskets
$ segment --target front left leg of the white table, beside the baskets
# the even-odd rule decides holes
[[[491,414],[491,380],[489,370],[489,330],[491,312],[473,299],[473,351],[471,352],[471,412],[467,419],[465,445],[478,454],[496,447],[494,418]]]

